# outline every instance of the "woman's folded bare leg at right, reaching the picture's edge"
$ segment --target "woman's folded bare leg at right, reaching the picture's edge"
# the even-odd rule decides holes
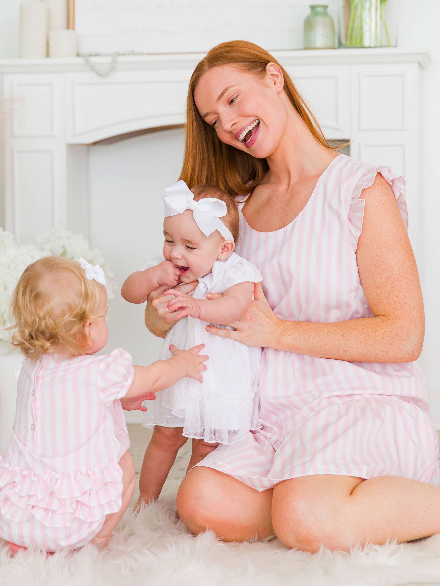
[[[303,476],[273,489],[272,522],[288,547],[350,550],[440,532],[440,488],[400,476]]]

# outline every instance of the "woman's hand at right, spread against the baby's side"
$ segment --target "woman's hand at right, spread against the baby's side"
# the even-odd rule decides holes
[[[218,299],[218,293],[208,293],[207,299]],[[276,347],[275,340],[281,334],[283,320],[273,313],[268,300],[263,293],[261,283],[255,283],[253,287],[253,301],[249,309],[241,319],[236,322],[226,323],[234,330],[207,326],[207,332],[221,338],[231,338],[242,342],[246,346]]]

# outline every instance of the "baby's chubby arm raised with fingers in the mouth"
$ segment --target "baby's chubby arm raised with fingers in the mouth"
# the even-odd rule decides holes
[[[155,267],[132,272],[122,285],[121,295],[130,303],[144,303],[151,291],[160,285],[175,287],[179,277],[180,270],[171,261],[165,260]]]

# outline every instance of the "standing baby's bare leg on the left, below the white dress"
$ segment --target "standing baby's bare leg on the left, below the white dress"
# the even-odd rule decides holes
[[[139,478],[139,500],[134,507],[137,511],[142,503],[147,505],[160,495],[177,452],[187,442],[182,435],[183,427],[161,427],[156,425],[153,436],[145,450]]]

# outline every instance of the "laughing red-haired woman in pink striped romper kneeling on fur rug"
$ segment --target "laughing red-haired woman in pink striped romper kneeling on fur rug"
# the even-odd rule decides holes
[[[194,533],[275,533],[308,551],[440,532],[404,179],[336,155],[286,71],[252,43],[209,51],[187,115],[182,177],[236,197],[236,250],[263,275],[241,318],[207,328],[263,347],[262,427],[189,471],[181,519]],[[160,290],[145,323],[157,335],[172,326]]]

